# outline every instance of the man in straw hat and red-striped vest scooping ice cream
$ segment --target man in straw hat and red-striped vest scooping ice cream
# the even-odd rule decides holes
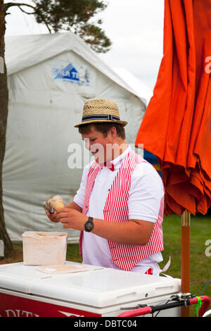
[[[81,231],[83,263],[159,275],[162,261],[164,189],[153,166],[130,149],[117,105],[84,104],[79,133],[94,161],[65,208],[50,215]]]

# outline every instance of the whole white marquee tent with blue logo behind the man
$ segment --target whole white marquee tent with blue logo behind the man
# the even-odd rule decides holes
[[[42,202],[59,194],[65,204],[79,187],[91,158],[78,130],[88,99],[112,99],[120,108],[127,142],[134,144],[148,103],[72,33],[6,37],[9,108],[3,166],[3,203],[8,234],[63,231],[46,218]],[[66,230],[65,230],[66,231]],[[68,230],[68,241],[79,232]]]

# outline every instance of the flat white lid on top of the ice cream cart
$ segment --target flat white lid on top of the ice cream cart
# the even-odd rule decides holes
[[[180,292],[181,280],[89,266],[81,273],[47,275],[23,263],[0,266],[0,287],[94,307]]]

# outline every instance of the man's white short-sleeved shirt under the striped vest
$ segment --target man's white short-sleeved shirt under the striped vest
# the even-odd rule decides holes
[[[94,187],[91,191],[89,209],[87,216],[104,219],[103,208],[106,204],[109,189],[122,165],[122,161],[130,151],[130,146],[112,163],[115,170],[111,171],[105,166],[99,170]],[[81,208],[84,206],[84,197],[87,185],[87,175],[92,163],[84,168],[82,182],[75,195],[74,201]],[[153,165],[150,163],[139,163],[132,173],[131,186],[129,189],[129,219],[146,220],[155,223],[160,211],[160,201],[164,195],[162,180]],[[83,263],[105,268],[120,269],[112,261],[108,240],[98,237],[91,232],[84,232],[82,241]],[[143,258],[132,268],[131,271],[145,273],[148,268],[153,268],[153,275],[159,275],[158,263],[162,261],[162,254],[156,253]]]

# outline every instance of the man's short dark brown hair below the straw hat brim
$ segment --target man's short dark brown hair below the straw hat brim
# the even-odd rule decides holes
[[[89,132],[91,132],[91,127],[94,128],[94,130],[102,132],[104,137],[107,137],[108,131],[111,127],[115,127],[117,130],[117,136],[125,139],[125,130],[122,124],[120,123],[88,123],[88,124],[82,124],[79,126],[79,133],[81,135],[87,135]]]

